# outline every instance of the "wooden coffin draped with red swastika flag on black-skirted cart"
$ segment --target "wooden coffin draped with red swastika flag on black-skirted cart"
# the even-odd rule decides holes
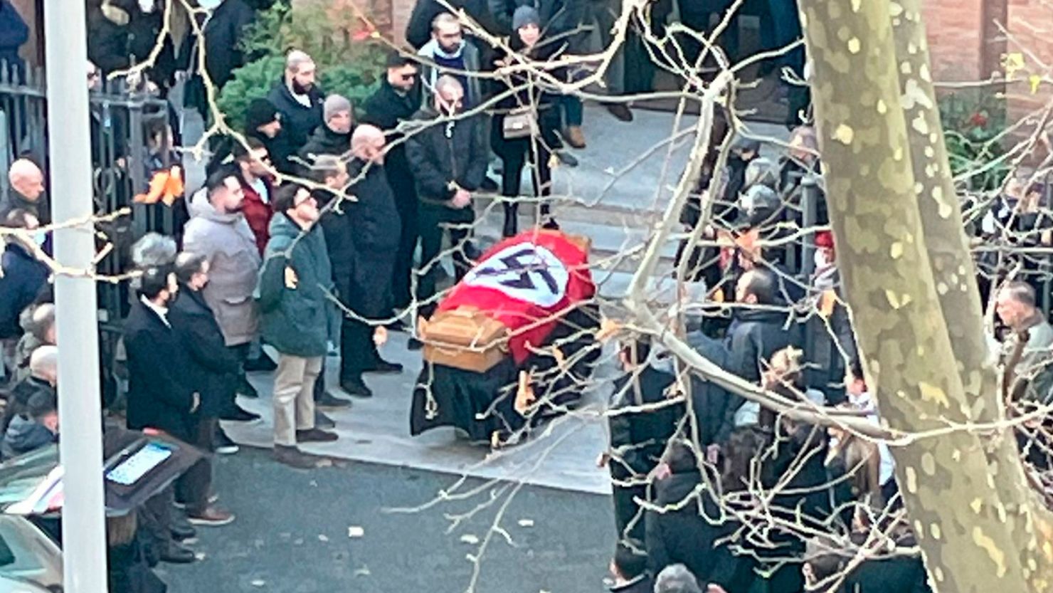
[[[585,238],[531,230],[491,248],[420,324],[411,434],[503,441],[573,407],[599,357],[595,294]]]

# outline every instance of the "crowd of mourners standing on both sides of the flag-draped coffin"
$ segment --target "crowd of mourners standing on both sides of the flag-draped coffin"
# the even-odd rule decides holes
[[[204,65],[222,86],[243,63],[234,48],[253,11],[243,0],[199,2],[214,9],[203,35],[206,46],[221,51],[210,52]],[[617,3],[453,4],[508,39],[510,52],[471,35],[442,3],[419,0],[406,32],[413,50],[393,51],[379,88],[355,105],[319,86],[312,56],[290,51],[282,79],[243,114],[243,138],[214,144],[206,180],[181,202],[185,212],[173,235],[136,243],[134,296],[122,323],[126,398],[123,411],[112,410],[126,429],[163,432],[210,454],[237,453],[219,420],[256,420],[237,397],[259,397],[247,373],[273,372],[274,458],[315,468],[320,458],[300,444],[339,438],[325,411],[351,404],[341,394],[373,396],[367,375],[402,372],[380,351],[389,331],[412,325],[409,312],[428,317],[435,310],[443,243],[451,245],[455,281],[472,266],[479,198],[501,200],[502,234],[515,235],[530,166],[538,224],[558,229],[549,201],[552,166],[573,166],[569,149],[587,143],[581,100],[540,83],[535,70],[488,73],[589,51],[584,23],[595,23],[609,43]],[[690,4],[681,3],[681,18],[702,29],[723,9]],[[113,0],[93,8],[90,86],[153,51],[143,42],[160,33],[160,5]],[[7,8],[0,0],[0,17]],[[737,51],[731,34],[721,42]],[[188,78],[190,106],[207,117],[194,91],[199,79],[179,74],[195,60],[170,50],[147,76],[162,96]],[[618,52],[609,70],[602,101],[622,121],[633,115],[619,96],[638,90],[627,80],[628,53]],[[548,66],[545,76],[557,80],[581,74]],[[680,216],[702,241],[684,241],[677,266],[706,289],[706,298],[692,303],[700,314],[688,316],[688,342],[744,381],[878,423],[839,296],[832,236],[788,239],[828,222],[815,131],[796,126],[778,161],[762,156],[758,141],[736,139],[720,171],[717,149],[732,134],[727,118],[717,118],[714,132],[702,178]],[[53,222],[45,176],[23,158],[7,178],[0,203],[7,231],[0,459],[54,443],[60,432],[54,270],[49,235],[40,231]],[[716,199],[702,212],[700,197],[711,186]],[[1027,244],[1050,244],[1044,192],[1024,177],[1008,183],[986,216],[974,217],[977,241],[1002,244],[1013,233]],[[989,253],[980,252],[980,283],[996,303],[1000,323],[991,339],[1004,353],[1008,396],[1021,410],[1049,404],[1053,325],[1041,309],[1049,300],[1045,269],[1029,260],[1025,269],[1035,274],[1006,281],[1012,258],[999,252],[992,262]],[[421,343],[411,339],[410,347]],[[324,380],[333,351],[339,391]],[[614,485],[612,590],[798,593],[831,579],[846,592],[928,590],[919,557],[878,553],[913,541],[899,515],[880,511],[901,505],[886,444],[780,417],[694,376],[681,380],[682,364],[647,338],[621,344],[619,361],[610,448],[598,460]],[[1049,469],[1050,422],[1033,424],[1020,432],[1022,454]],[[106,430],[117,429],[107,422]],[[131,519],[112,519],[114,591],[163,591],[151,567],[194,561],[180,542],[196,527],[234,520],[217,503],[212,466],[205,456]],[[886,536],[875,542],[878,523]],[[859,550],[875,557],[850,562]]]

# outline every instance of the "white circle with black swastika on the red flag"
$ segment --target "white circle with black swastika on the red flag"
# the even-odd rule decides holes
[[[534,243],[516,243],[480,261],[461,281],[550,308],[563,299],[570,279],[567,265],[551,251]]]

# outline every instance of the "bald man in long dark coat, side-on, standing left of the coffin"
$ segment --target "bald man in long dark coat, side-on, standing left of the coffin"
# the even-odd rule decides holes
[[[401,221],[395,195],[384,173],[386,142],[380,129],[359,125],[351,137],[352,160],[347,165],[356,201],[345,202],[322,217],[326,242],[349,245],[352,253],[331,253],[333,280],[340,301],[363,322],[345,315],[340,337],[340,388],[349,395],[370,397],[373,392],[362,380],[363,373],[400,373],[401,364],[380,358],[374,335],[392,317],[392,278],[398,253]],[[350,237],[351,241],[346,238]],[[343,239],[341,241],[340,239]]]

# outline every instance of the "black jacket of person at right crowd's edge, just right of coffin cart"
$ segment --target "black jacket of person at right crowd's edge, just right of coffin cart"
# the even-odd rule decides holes
[[[652,367],[644,368],[639,375],[627,373],[614,381],[611,409],[660,403],[670,397],[667,391],[673,381],[672,374]],[[683,413],[683,403],[676,403],[648,412],[609,416],[611,473],[615,479],[647,475],[653,470]]]

